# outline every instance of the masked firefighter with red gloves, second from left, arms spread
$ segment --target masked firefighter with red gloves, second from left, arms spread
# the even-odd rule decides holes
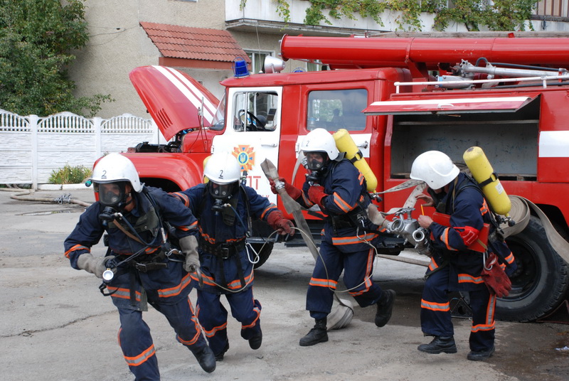
[[[294,225],[275,204],[240,183],[240,165],[232,154],[213,154],[203,174],[208,183],[174,195],[198,218],[202,284],[198,286],[197,315],[216,360],[221,361],[229,349],[228,311],[221,295],[241,323],[241,337],[250,348],[256,350],[262,343],[261,304],[252,291],[255,252],[245,242],[250,218],[264,220],[282,235],[293,235]]]

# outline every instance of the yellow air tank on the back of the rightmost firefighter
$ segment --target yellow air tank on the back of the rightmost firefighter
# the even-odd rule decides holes
[[[482,193],[490,203],[490,207],[499,215],[509,216],[511,209],[510,198],[504,191],[498,176],[494,173],[482,148],[474,146],[464,151],[462,156],[464,163],[467,164],[474,180],[479,183]]]

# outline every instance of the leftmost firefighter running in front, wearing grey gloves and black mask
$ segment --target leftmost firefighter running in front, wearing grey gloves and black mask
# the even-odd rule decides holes
[[[136,380],[160,380],[150,329],[142,319],[147,299],[166,316],[176,340],[191,350],[203,370],[213,372],[216,360],[188,299],[191,279],[184,269],[199,267],[196,218],[177,198],[141,184],[132,161],[120,154],[97,163],[92,183],[99,201],[85,210],[65,240],[65,257],[71,267],[98,278],[113,268],[115,274],[105,284],[119,311],[119,344],[130,371]],[[166,221],[175,229],[185,261],[165,255]],[[90,249],[105,232],[107,254],[94,257]]]

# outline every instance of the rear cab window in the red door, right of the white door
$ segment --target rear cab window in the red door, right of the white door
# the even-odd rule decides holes
[[[328,131],[366,129],[368,91],[365,89],[317,90],[308,95],[307,129]]]

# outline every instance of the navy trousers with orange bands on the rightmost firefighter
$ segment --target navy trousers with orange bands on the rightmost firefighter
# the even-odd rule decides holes
[[[431,274],[425,282],[421,299],[421,329],[428,336],[453,336],[454,328],[450,315],[449,267],[442,267]],[[494,346],[494,309],[496,296],[490,295],[484,284],[476,291],[469,291],[472,308],[470,350],[489,350]]]

